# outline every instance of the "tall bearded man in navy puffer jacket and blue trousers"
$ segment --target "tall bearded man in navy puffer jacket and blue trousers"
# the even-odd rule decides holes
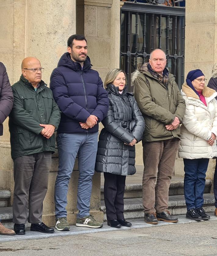
[[[87,40],[72,35],[51,74],[50,88],[62,114],[56,137],[59,169],[55,183],[57,230],[69,231],[67,222],[68,184],[78,154],[78,195],[76,226],[101,228],[90,215],[92,176],[96,161],[98,123],[106,116],[109,100],[99,73],[91,69]]]

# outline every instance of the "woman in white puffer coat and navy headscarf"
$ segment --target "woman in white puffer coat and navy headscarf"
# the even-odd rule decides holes
[[[203,192],[209,159],[217,156],[217,93],[205,86],[206,80],[200,69],[192,70],[181,90],[186,112],[178,155],[184,161],[186,218],[196,221],[210,219],[202,208]]]

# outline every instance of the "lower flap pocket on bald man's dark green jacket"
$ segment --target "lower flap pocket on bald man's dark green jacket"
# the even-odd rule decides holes
[[[40,134],[37,135],[23,128],[18,128],[19,144],[23,150],[31,150],[42,147],[42,138]]]

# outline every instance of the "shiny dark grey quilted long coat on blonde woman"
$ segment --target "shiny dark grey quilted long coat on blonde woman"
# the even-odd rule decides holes
[[[109,109],[102,123],[96,155],[96,172],[132,175],[135,168],[135,146],[128,146],[134,138],[143,137],[145,121],[132,93],[118,92],[113,84],[107,86]]]

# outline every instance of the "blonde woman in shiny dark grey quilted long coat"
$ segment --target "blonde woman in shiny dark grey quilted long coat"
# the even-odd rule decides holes
[[[132,93],[127,92],[126,74],[115,68],[105,79],[109,109],[103,119],[96,155],[96,172],[104,174],[107,223],[111,227],[131,226],[124,219],[126,175],[135,174],[135,144],[142,139],[145,121]]]

